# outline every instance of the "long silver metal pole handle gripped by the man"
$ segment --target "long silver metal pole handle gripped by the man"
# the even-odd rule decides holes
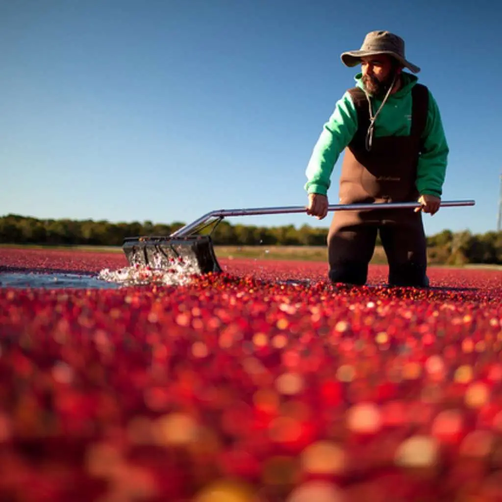
[[[474,200],[445,200],[441,202],[441,207],[473,206]],[[335,204],[328,206],[329,211],[351,211],[351,210],[374,210],[374,209],[414,209],[420,207],[418,202],[392,202],[376,204]],[[257,216],[263,214],[286,214],[286,213],[306,213],[305,206],[282,206],[282,207],[256,207],[248,209],[217,209],[210,211],[192,223],[189,223],[175,232],[170,237],[183,237],[210,218],[225,218],[227,216]]]

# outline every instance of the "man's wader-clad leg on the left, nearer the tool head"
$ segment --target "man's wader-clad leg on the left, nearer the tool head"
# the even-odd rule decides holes
[[[329,279],[334,283],[364,285],[373,256],[376,225],[354,223],[335,214],[328,233]]]

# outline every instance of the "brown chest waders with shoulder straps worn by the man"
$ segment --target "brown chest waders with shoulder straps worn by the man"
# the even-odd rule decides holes
[[[417,162],[427,120],[428,90],[412,89],[410,136],[376,137],[368,151],[368,101],[361,89],[350,89],[358,130],[345,149],[340,176],[340,203],[416,202]],[[389,285],[428,286],[426,236],[422,213],[413,209],[335,211],[328,234],[332,282],[366,283],[368,264],[380,231],[389,263]]]

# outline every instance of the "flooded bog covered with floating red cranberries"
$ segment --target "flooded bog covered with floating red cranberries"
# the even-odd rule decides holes
[[[502,500],[502,272],[220,263],[0,249],[1,500]]]

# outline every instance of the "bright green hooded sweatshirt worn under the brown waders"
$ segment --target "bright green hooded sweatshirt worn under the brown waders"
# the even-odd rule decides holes
[[[355,76],[357,87],[362,88],[361,73]],[[403,86],[391,94],[376,117],[374,136],[409,135],[411,128],[411,89],[418,78],[403,73]],[[373,99],[372,99],[373,101]],[[381,100],[374,100],[373,110],[379,108]],[[357,112],[348,92],[337,101],[329,120],[314,146],[305,172],[307,193],[326,195],[331,185],[330,178],[338,157],[350,143],[357,131]],[[429,110],[424,131],[424,150],[418,161],[417,190],[421,195],[438,197],[442,194],[446,174],[449,148],[446,142],[441,115],[436,100],[429,91]]]

